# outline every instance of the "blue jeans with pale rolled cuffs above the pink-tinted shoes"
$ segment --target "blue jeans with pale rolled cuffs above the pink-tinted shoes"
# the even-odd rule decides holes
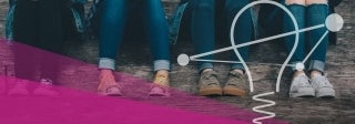
[[[168,22],[160,0],[104,0],[100,29],[100,69],[114,70],[115,58],[123,40],[126,10],[132,3],[140,6],[142,23],[149,35],[154,59],[154,71],[170,70]]]

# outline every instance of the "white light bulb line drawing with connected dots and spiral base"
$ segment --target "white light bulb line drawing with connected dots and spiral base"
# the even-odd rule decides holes
[[[261,3],[267,3],[267,4],[273,4],[276,6],[281,9],[284,10],[285,13],[288,14],[288,17],[291,18],[291,20],[294,23],[294,29],[295,31],[291,31],[291,32],[286,32],[286,33],[282,33],[282,34],[277,34],[277,35],[273,35],[273,37],[268,37],[268,38],[264,38],[264,39],[260,39],[260,40],[255,40],[255,41],[251,41],[251,42],[246,42],[246,43],[242,43],[242,44],[235,44],[234,42],[234,29],[235,29],[235,24],[237,19],[240,18],[240,16],[246,11],[248,8],[255,6],[255,4],[261,4]],[[343,28],[344,24],[344,20],[343,18],[337,14],[337,13],[333,13],[331,16],[327,17],[327,19],[325,20],[325,24],[318,24],[318,25],[314,25],[314,27],[310,27],[310,28],[305,28],[305,29],[298,29],[298,24],[296,22],[295,17],[292,14],[292,12],[284,7],[283,4],[272,1],[272,0],[258,0],[258,1],[254,1],[251,2],[250,4],[245,6],[244,8],[242,8],[239,13],[235,16],[232,27],[231,27],[231,46],[227,48],[223,48],[223,49],[219,49],[219,50],[214,50],[214,51],[210,51],[210,52],[205,52],[205,53],[200,53],[196,55],[191,55],[189,56],[187,54],[181,54],[178,58],[178,63],[180,65],[187,65],[190,61],[199,61],[199,62],[217,62],[217,63],[241,63],[243,64],[246,75],[248,78],[248,82],[250,82],[250,91],[253,92],[254,91],[254,84],[253,84],[253,80],[252,80],[252,75],[251,72],[248,70],[248,66],[246,65],[246,62],[243,60],[242,55],[240,54],[240,52],[237,51],[239,48],[243,48],[243,46],[247,46],[247,45],[253,45],[253,44],[257,44],[257,43],[262,43],[262,42],[266,42],[266,41],[271,41],[271,40],[275,40],[275,39],[280,39],[283,37],[287,37],[287,35],[293,35],[295,34],[295,42],[294,42],[294,46],[291,50],[288,56],[286,58],[286,60],[284,61],[283,64],[273,64],[273,65],[281,65],[280,69],[280,73],[277,75],[277,81],[276,81],[276,90],[275,92],[280,92],[280,84],[281,84],[281,78],[283,75],[283,72],[285,70],[286,66],[295,66],[296,69],[304,69],[304,63],[310,59],[310,56],[313,54],[313,52],[316,50],[316,48],[322,43],[322,41],[326,38],[326,35],[328,34],[329,31],[336,32],[336,31],[341,31],[341,29]],[[291,58],[293,56],[293,54],[296,51],[296,48],[298,45],[298,40],[300,40],[300,33],[302,32],[306,32],[306,31],[311,31],[311,30],[316,30],[316,29],[321,29],[326,27],[328,31],[326,31],[322,38],[317,41],[317,43],[315,44],[315,46],[310,51],[310,53],[306,55],[306,58],[303,60],[303,63],[297,63],[297,64],[288,64],[291,61]],[[233,50],[236,54],[236,56],[239,58],[240,62],[237,61],[224,61],[224,60],[203,60],[203,59],[199,59],[202,56],[206,56],[206,55],[211,55],[211,54],[215,54],[215,53],[220,53],[220,52],[224,52],[224,51],[230,51]],[[264,102],[267,104],[264,105],[260,105],[260,106],[255,106],[253,107],[254,112],[257,113],[262,113],[262,114],[266,114],[266,116],[262,116],[262,117],[257,117],[253,120],[253,123],[255,124],[262,124],[262,120],[267,120],[267,118],[273,118],[275,117],[275,113],[272,112],[266,112],[266,111],[262,111],[260,108],[264,108],[264,107],[270,107],[275,105],[276,103],[274,101],[270,101],[270,100],[264,100],[264,99],[260,99],[262,96],[266,96],[266,95],[273,95],[275,94],[275,92],[267,92],[267,93],[262,93],[262,94],[257,94],[253,96],[254,101],[258,101],[258,102]]]

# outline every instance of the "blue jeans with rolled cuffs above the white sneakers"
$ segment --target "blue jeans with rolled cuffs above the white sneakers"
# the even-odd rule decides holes
[[[301,4],[290,4],[287,6],[288,10],[294,14],[298,23],[300,29],[314,27],[318,24],[324,24],[325,19],[328,16],[328,6],[327,4],[311,4],[311,6],[301,6]],[[285,32],[294,31],[294,24],[291,21],[291,18],[285,16],[284,29]],[[291,60],[291,63],[300,63],[304,61],[308,52],[315,46],[317,41],[326,32],[326,28],[320,28],[307,32],[300,33],[300,41],[296,48],[296,51]],[[285,38],[286,50],[290,52],[294,45],[295,37],[290,35]],[[308,70],[315,70],[324,72],[325,70],[325,60],[327,51],[328,38],[324,38],[321,44],[315,49],[314,53],[311,54]],[[296,69],[293,68],[295,71]]]

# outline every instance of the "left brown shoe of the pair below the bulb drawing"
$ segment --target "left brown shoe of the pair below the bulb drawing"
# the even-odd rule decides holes
[[[215,71],[202,72],[199,80],[199,95],[222,95],[222,87]]]

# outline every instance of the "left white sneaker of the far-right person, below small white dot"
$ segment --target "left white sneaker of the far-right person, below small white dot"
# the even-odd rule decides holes
[[[290,87],[290,97],[314,97],[315,90],[310,84],[310,79],[305,75],[298,75],[292,80]]]

